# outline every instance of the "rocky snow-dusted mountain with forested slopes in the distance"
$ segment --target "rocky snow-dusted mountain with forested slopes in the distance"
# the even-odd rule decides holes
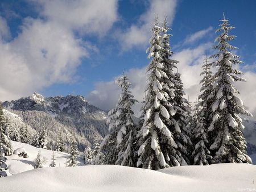
[[[16,101],[3,102],[3,107],[9,111],[6,112],[9,119],[16,114],[32,130],[46,126],[50,140],[55,141],[58,133],[65,140],[65,132],[74,132],[80,151],[94,139],[102,140],[108,130],[106,112],[90,105],[82,95],[44,97],[34,93]]]

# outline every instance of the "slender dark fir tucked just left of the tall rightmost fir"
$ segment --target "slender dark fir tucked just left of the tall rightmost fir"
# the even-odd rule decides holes
[[[194,165],[209,165],[212,161],[212,156],[209,151],[209,135],[208,127],[211,122],[210,112],[213,103],[213,98],[209,97],[213,88],[213,76],[212,76],[212,63],[208,62],[207,55],[205,55],[204,64],[202,66],[203,72],[201,76],[204,76],[200,81],[202,92],[199,95],[199,102],[196,104],[195,114],[193,115],[193,144],[194,151],[192,152]]]

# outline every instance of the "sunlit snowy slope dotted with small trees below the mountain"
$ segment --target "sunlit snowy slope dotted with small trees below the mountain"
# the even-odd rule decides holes
[[[7,156],[6,164],[8,165],[8,174],[9,176],[12,174],[17,174],[21,172],[26,172],[27,170],[34,169],[35,165],[35,158],[36,155],[38,155],[38,151],[41,151],[41,155],[43,157],[47,158],[46,164],[44,164],[44,167],[49,167],[49,164],[51,164],[51,158],[53,155],[53,151],[42,149],[42,148],[36,148],[29,144],[25,143],[19,143],[16,141],[11,141],[13,145],[13,149],[16,150],[18,148],[24,148],[27,152],[28,158],[19,157],[18,155],[11,155]],[[64,152],[54,152],[55,155],[55,163],[56,166],[65,166],[65,162],[67,161],[67,158],[69,157],[68,153]],[[79,165],[84,165],[81,159],[79,159]],[[1,191],[1,190],[0,190]]]

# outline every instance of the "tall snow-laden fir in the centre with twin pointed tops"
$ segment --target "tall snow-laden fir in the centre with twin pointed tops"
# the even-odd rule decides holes
[[[161,36],[162,30],[164,38]],[[170,60],[172,52],[168,44],[170,35],[166,34],[167,30],[166,23],[163,28],[159,26],[156,16],[152,28],[153,36],[150,40],[150,48],[148,48],[150,52],[148,58],[152,57],[152,60],[147,68],[149,83],[142,107],[144,122],[138,133],[140,147],[137,166],[155,170],[167,168],[170,166],[169,163],[171,166],[180,165],[176,156],[177,144],[173,133],[168,128],[174,123],[170,120],[170,113],[175,114],[170,100],[175,97],[174,89],[172,89],[175,74],[172,68],[177,61]],[[173,78],[170,76],[169,79],[167,74],[172,74]]]

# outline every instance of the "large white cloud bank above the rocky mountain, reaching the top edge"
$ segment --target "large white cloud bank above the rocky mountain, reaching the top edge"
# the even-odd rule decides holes
[[[23,20],[15,39],[0,41],[0,100],[17,99],[58,82],[72,82],[82,57],[97,47],[82,40],[104,35],[117,20],[117,1],[36,1],[38,19]],[[100,13],[100,14],[99,14]],[[43,16],[43,18],[42,18]],[[10,34],[0,18],[3,37]],[[74,30],[83,36],[75,36]]]

